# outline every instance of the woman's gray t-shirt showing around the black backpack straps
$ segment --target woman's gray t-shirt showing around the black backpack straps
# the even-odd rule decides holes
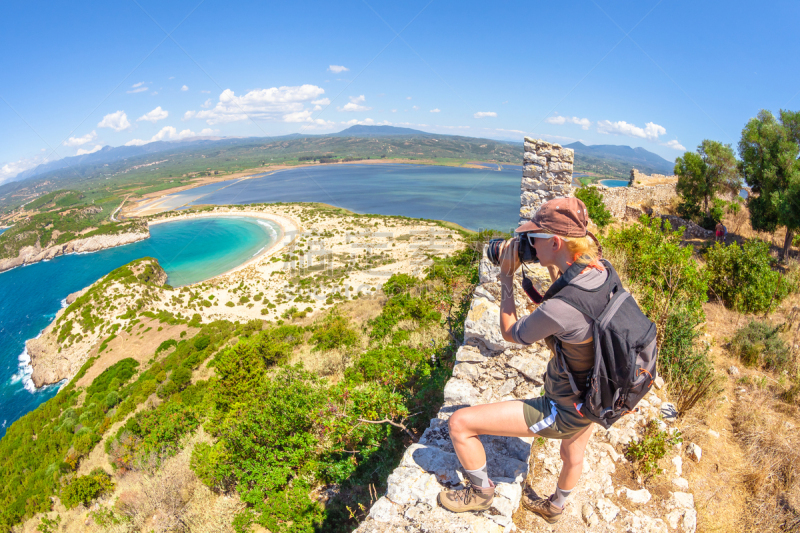
[[[607,278],[607,270],[591,268],[588,272],[577,275],[570,285],[596,289]],[[592,338],[592,319],[562,300],[550,299],[533,313],[517,320],[511,328],[511,335],[517,344],[533,344],[550,335],[563,342],[579,344]]]

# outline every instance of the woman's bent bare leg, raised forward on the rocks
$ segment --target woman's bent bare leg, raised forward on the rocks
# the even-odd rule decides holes
[[[535,436],[525,425],[522,406],[520,401],[499,402],[466,407],[453,413],[449,421],[450,439],[461,466],[476,470],[486,464],[486,452],[478,435]]]

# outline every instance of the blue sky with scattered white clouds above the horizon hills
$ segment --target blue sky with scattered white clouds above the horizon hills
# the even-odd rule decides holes
[[[391,124],[673,160],[800,108],[800,3],[6,2],[0,182],[105,145]]]

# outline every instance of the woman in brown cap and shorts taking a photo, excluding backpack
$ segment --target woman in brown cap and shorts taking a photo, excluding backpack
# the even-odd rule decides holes
[[[533,313],[518,320],[513,279],[520,267],[520,240],[526,239],[535,249],[539,262],[550,270],[553,281],[577,262],[586,267],[570,284],[587,291],[603,285],[608,272],[599,261],[599,250],[587,231],[587,223],[586,206],[577,198],[551,200],[541,206],[532,221],[517,228],[518,237],[507,241],[499,254],[503,338],[517,344],[545,340],[551,350],[554,350],[553,339],[558,339],[566,364],[579,384],[586,382],[594,364],[592,320],[557,298],[546,300]],[[463,512],[491,506],[494,483],[489,478],[479,435],[539,436],[561,440],[563,466],[549,498],[523,497],[522,503],[549,523],[561,517],[567,497],[583,470],[583,455],[592,435],[592,423],[580,413],[580,394],[574,393],[568,374],[559,370],[555,357],[547,365],[544,390],[544,396],[538,398],[477,405],[453,413],[449,421],[450,438],[468,474],[469,484],[462,490],[440,493],[439,503],[443,507]]]

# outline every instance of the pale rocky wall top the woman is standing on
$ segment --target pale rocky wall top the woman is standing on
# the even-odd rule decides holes
[[[547,525],[520,508],[520,500],[523,490],[545,496],[553,491],[561,468],[558,441],[540,439],[534,443],[533,438],[482,437],[489,475],[497,483],[493,506],[484,512],[454,514],[437,503],[440,491],[464,479],[450,441],[450,415],[470,405],[541,395],[550,357],[543,345],[520,346],[502,339],[497,271],[484,259],[480,274],[481,283],[465,323],[465,344],[456,354],[453,377],[444,389],[444,405],[419,442],[406,450],[400,465],[389,476],[386,494],[373,504],[367,520],[356,530],[358,533],[500,533]],[[545,269],[534,269],[533,277],[535,283],[546,285]],[[515,283],[515,299],[518,316],[522,316],[532,306],[519,282],[520,278]],[[663,385],[663,381],[658,384]],[[688,481],[680,477],[680,455],[672,460],[675,471],[665,473],[671,476],[674,491],[661,498],[645,488],[619,483],[615,486],[612,479],[617,465],[627,461],[622,447],[638,440],[650,420],[661,420],[665,407],[668,413],[674,411],[662,398],[665,392],[654,389],[642,400],[638,413],[625,417],[608,431],[595,426],[586,450],[583,477],[570,497],[559,531],[695,531],[694,497],[688,492]],[[668,421],[674,422],[674,416],[669,416]]]

